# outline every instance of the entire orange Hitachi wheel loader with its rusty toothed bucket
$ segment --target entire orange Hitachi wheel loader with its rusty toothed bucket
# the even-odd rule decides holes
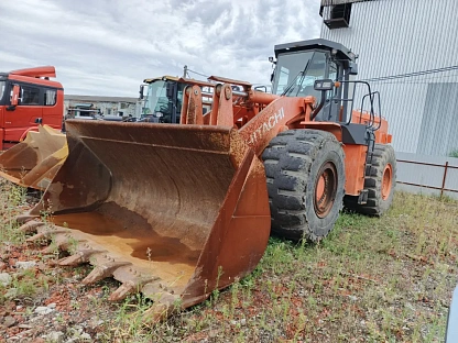
[[[95,266],[84,284],[113,277],[111,299],[141,291],[165,316],[252,272],[271,230],[318,241],[344,203],[383,213],[395,158],[378,93],[351,80],[355,55],[324,40],[275,55],[273,93],[214,77],[211,110],[189,86],[179,125],[68,120],[67,159],[18,219],[30,241],[53,240],[70,253],[61,265]]]

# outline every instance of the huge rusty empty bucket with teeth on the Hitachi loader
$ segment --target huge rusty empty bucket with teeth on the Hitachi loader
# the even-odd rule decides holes
[[[117,300],[141,291],[168,311],[206,299],[254,269],[266,247],[264,167],[222,126],[66,122],[69,155],[30,221],[89,262],[84,283],[115,277]],[[32,237],[32,240],[34,240]]]

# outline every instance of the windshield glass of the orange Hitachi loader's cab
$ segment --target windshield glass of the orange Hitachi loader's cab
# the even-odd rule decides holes
[[[276,62],[273,92],[279,96],[318,98],[320,93],[314,89],[314,82],[326,78],[326,53],[282,54]]]

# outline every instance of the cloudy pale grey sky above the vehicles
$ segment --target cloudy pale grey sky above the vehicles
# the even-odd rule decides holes
[[[53,65],[66,93],[85,96],[137,97],[185,65],[268,85],[275,44],[319,36],[319,2],[1,0],[0,71]]]

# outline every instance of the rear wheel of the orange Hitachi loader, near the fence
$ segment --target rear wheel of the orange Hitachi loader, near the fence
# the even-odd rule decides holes
[[[369,161],[368,161],[369,163]],[[393,202],[396,185],[396,156],[391,145],[375,144],[372,165],[367,167],[364,188],[368,189],[368,201],[358,203],[358,197],[346,196],[347,209],[362,214],[381,215]]]

